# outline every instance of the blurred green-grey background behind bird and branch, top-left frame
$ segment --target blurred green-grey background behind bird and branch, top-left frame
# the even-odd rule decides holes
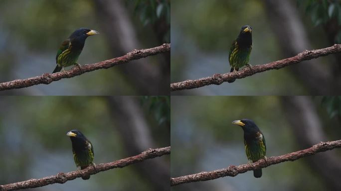
[[[0,82],[51,73],[70,34],[87,27],[81,65],[170,42],[170,0],[1,0]],[[71,67],[66,68],[67,70]],[[170,53],[2,95],[169,95]]]

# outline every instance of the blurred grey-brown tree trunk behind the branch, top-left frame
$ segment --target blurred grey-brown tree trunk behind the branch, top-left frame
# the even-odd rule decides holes
[[[93,0],[96,15],[101,22],[101,30],[107,38],[108,45],[115,55],[141,47],[136,27],[130,17],[129,10],[122,0]],[[142,36],[142,35],[141,35]],[[114,56],[115,56],[114,55]],[[170,60],[170,57],[169,57]],[[120,68],[135,85],[142,95],[169,94],[170,83],[169,63],[161,59],[158,65],[150,65],[150,60],[140,60],[134,63],[135,67],[123,66]],[[163,70],[166,68],[166,70]],[[165,94],[167,93],[167,94]]]

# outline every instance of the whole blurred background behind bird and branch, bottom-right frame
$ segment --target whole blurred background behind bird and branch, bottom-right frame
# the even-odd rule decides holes
[[[341,97],[172,96],[171,177],[248,163],[243,130],[249,118],[263,132],[267,157],[341,139]],[[189,183],[172,191],[340,191],[341,149],[236,177]]]

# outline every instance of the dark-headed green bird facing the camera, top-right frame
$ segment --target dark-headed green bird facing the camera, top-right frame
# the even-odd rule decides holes
[[[252,28],[249,25],[244,25],[241,27],[239,35],[236,40],[233,41],[230,52],[228,54],[228,61],[231,66],[231,71],[236,73],[239,68],[248,65],[252,70],[252,66],[249,64],[250,54],[252,50]],[[228,80],[228,83],[234,82],[233,80]]]

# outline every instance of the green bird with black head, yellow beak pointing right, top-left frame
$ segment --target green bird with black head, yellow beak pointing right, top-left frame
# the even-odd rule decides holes
[[[52,74],[60,72],[60,70],[63,70],[64,72],[64,67],[71,65],[77,65],[80,69],[82,69],[82,66],[76,62],[83,50],[86,38],[95,34],[99,34],[99,32],[88,28],[79,28],[75,30],[68,39],[64,40],[57,51],[57,66],[53,70]]]

